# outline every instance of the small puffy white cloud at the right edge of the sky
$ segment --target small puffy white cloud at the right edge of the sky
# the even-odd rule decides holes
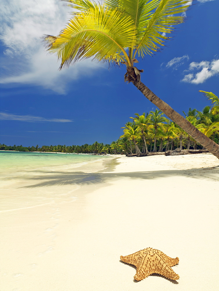
[[[190,73],[184,76],[183,82],[191,84],[201,84],[204,83],[210,77],[219,74],[219,59],[209,61],[201,61],[200,63],[192,62],[189,65],[189,71],[200,70],[197,73]],[[187,70],[188,71],[188,70]]]

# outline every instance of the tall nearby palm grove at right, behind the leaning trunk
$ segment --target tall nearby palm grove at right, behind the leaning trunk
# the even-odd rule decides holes
[[[219,99],[212,92],[200,91],[211,101],[202,111],[189,108],[184,113],[195,128],[212,139],[219,141]],[[124,134],[120,136],[119,146],[126,155],[136,153],[137,155],[149,152],[162,152],[174,150],[175,148],[203,149],[188,133],[179,125],[164,116],[161,110],[156,109],[150,113],[130,117],[132,122],[127,122],[123,127]]]

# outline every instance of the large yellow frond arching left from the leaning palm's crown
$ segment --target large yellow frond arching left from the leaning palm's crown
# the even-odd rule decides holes
[[[96,5],[75,15],[59,36],[45,36],[44,40],[48,50],[62,59],[60,68],[91,56],[119,63],[128,58],[124,48],[132,47],[135,42],[133,28],[130,17],[117,9]]]

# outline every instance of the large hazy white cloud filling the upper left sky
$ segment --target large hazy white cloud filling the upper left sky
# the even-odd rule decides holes
[[[103,68],[103,64],[85,60],[60,72],[57,57],[45,52],[42,35],[57,35],[70,12],[58,0],[1,1],[0,39],[5,46],[1,83],[40,85],[64,94],[69,81]]]

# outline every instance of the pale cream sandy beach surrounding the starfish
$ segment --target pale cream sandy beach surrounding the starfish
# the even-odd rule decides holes
[[[64,183],[66,175],[26,192],[17,182],[19,206],[0,212],[1,291],[219,290],[216,157],[119,156],[93,176],[80,188]],[[21,207],[27,191],[39,206]],[[49,200],[53,191],[60,196]],[[179,257],[179,280],[134,281],[136,268],[120,255],[147,247]]]

